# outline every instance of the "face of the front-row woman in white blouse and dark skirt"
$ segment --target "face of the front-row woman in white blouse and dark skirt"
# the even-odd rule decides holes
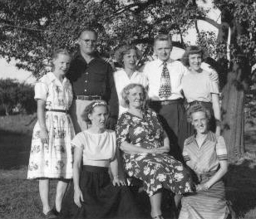
[[[100,129],[106,127],[106,120],[108,118],[108,111],[105,105],[96,106],[91,114],[88,114],[88,118],[91,120],[91,125]]]

